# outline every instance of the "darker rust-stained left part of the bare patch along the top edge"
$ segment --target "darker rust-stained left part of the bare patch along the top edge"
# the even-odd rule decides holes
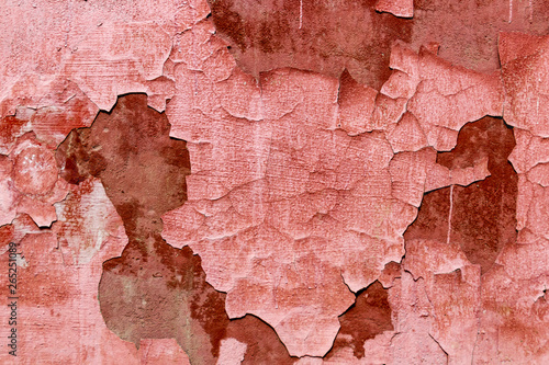
[[[209,0],[217,34],[231,42],[238,65],[258,77],[280,67],[338,77],[347,67],[377,89],[390,76],[389,50],[410,42],[414,20],[378,13],[376,1],[272,2]]]

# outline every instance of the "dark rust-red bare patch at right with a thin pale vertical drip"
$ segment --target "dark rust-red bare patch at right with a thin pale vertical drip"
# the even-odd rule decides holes
[[[438,153],[437,162],[453,169],[489,159],[491,175],[469,186],[453,186],[450,241],[461,247],[469,261],[492,267],[505,244],[516,241],[518,178],[507,161],[515,147],[513,129],[503,119],[486,116],[461,128],[456,148]],[[435,239],[446,242],[450,187],[425,194],[417,219],[405,240]]]

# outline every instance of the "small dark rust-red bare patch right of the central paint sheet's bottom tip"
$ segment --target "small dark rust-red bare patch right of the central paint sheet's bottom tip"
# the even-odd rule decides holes
[[[334,346],[325,358],[332,357],[339,349],[347,346],[352,347],[356,357],[362,358],[366,340],[394,329],[391,321],[388,289],[376,281],[366,289],[358,292],[355,304],[339,316],[339,323],[341,328],[334,341]]]

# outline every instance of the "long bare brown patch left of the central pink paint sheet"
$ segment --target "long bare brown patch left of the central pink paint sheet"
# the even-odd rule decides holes
[[[215,364],[226,338],[247,344],[249,364],[293,363],[268,324],[253,316],[228,319],[226,294],[206,283],[200,256],[161,238],[160,217],[184,203],[190,173],[186,142],[170,138],[169,128],[145,94],[130,94],[90,128],[72,130],[56,152],[70,183],[101,179],[130,240],[103,264],[99,301],[107,326],[136,345],[175,338],[192,364]]]

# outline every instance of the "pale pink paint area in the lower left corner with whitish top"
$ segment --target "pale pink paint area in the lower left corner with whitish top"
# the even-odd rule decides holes
[[[11,237],[4,238],[20,242],[22,252],[18,357],[23,364],[114,364],[120,358],[138,364],[135,346],[104,324],[97,299],[103,261],[119,255],[127,243],[122,219],[99,180],[71,189],[56,210],[51,229],[18,218]],[[3,254],[5,267],[7,259]],[[2,282],[7,287],[5,276]],[[0,313],[4,323],[7,313]],[[0,361],[7,364],[11,356],[2,351]]]

